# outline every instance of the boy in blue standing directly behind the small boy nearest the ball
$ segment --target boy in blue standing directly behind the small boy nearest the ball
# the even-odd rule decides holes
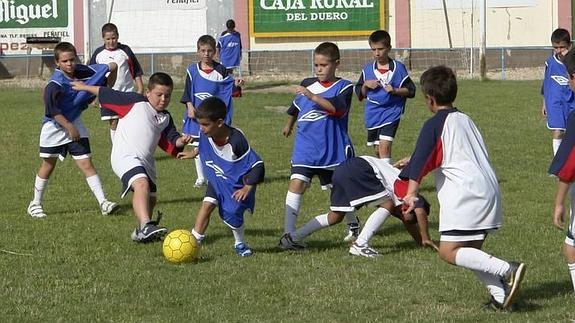
[[[200,61],[191,64],[187,69],[186,85],[180,102],[186,105],[184,112],[184,125],[182,132],[191,135],[196,141],[200,137],[200,125],[195,116],[196,108],[202,101],[210,96],[220,98],[227,107],[224,122],[232,124],[233,105],[232,90],[233,86],[240,86],[243,80],[234,80],[233,76],[228,75],[226,67],[214,61],[216,54],[216,40],[210,35],[201,36],[198,39],[198,56]],[[194,187],[200,187],[206,184],[202,172],[202,162],[200,156],[195,159],[197,178]]]

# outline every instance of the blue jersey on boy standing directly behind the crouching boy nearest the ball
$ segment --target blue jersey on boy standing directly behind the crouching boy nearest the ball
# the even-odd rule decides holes
[[[213,70],[206,72],[200,68],[200,63],[197,63],[190,65],[187,73],[188,77],[186,78],[184,94],[180,102],[184,104],[191,102],[194,108],[197,109],[206,98],[211,96],[218,97],[224,101],[228,108],[224,122],[227,125],[231,125],[234,113],[232,103],[234,78],[228,76],[226,68],[222,64],[214,62]],[[187,111],[184,111],[182,132],[192,135],[194,138],[200,136],[200,125],[198,121],[195,118],[188,117]]]

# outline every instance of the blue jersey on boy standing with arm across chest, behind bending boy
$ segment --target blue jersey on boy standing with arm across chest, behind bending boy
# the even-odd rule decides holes
[[[353,155],[347,133],[353,84],[344,79],[322,84],[317,78],[308,78],[301,85],[329,100],[336,112],[330,115],[305,95],[296,96],[288,110],[288,114],[297,115],[292,166],[334,168]]]

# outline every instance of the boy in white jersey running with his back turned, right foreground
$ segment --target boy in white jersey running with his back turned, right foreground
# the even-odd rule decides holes
[[[409,212],[422,178],[435,171],[439,199],[439,256],[473,271],[491,294],[488,308],[508,309],[525,273],[525,264],[507,262],[481,250],[487,234],[503,222],[501,196],[487,149],[473,121],[453,107],[457,81],[453,71],[436,66],[420,78],[434,114],[421,129],[415,150],[399,177],[409,180],[403,198]]]

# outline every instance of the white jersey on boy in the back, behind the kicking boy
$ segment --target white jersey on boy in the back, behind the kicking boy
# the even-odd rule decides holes
[[[112,88],[121,92],[136,91],[134,79],[142,76],[143,72],[130,47],[121,43],[118,43],[118,47],[115,49],[106,49],[101,46],[94,51],[92,58],[90,58],[90,64],[108,64],[110,62],[118,64],[118,76]]]

